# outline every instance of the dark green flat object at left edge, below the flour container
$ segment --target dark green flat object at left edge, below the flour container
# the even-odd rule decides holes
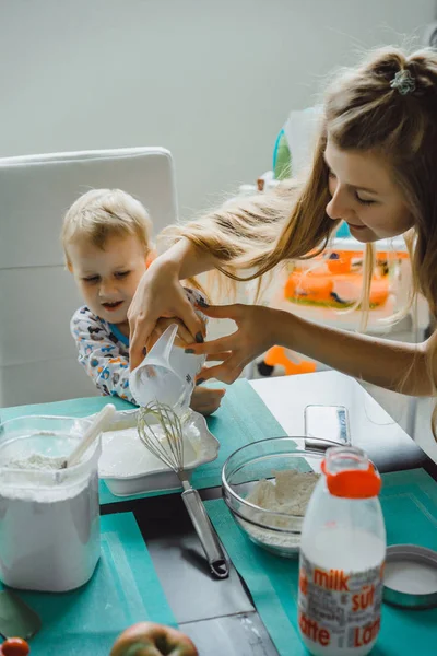
[[[23,599],[12,590],[0,591],[0,634],[3,637],[28,640],[40,626],[39,617]]]

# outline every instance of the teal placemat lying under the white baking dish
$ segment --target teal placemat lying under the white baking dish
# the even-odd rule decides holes
[[[223,398],[221,408],[208,419],[210,431],[221,444],[218,458],[194,471],[192,484],[198,490],[221,484],[223,464],[235,449],[250,442],[257,442],[265,437],[279,437],[285,434],[283,427],[246,379],[240,378],[233,385],[225,387],[226,395]],[[118,397],[91,397],[37,406],[2,408],[0,417],[2,421],[27,414],[86,417],[98,412],[108,402],[114,402],[117,410],[134,408],[134,406]],[[104,481],[101,481],[99,490],[102,505],[167,493],[167,491],[162,491],[135,496],[115,496]]]

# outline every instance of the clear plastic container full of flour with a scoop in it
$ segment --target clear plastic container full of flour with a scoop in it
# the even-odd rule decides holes
[[[63,593],[85,584],[101,553],[99,438],[59,469],[90,422],[26,417],[0,424],[0,578]]]

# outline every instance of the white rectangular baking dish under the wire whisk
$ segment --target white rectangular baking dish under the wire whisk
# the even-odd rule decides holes
[[[116,412],[102,435],[98,475],[116,496],[157,490],[175,490],[180,482],[174,471],[150,454],[137,432],[138,410]],[[184,424],[184,461],[188,476],[200,465],[215,460],[220,443],[204,417],[191,411]]]

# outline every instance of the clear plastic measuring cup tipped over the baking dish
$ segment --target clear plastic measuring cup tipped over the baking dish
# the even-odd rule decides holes
[[[172,324],[129,376],[129,387],[140,406],[152,401],[166,403],[178,414],[190,405],[196,376],[205,362],[204,355],[186,353],[175,347],[178,327]]]

